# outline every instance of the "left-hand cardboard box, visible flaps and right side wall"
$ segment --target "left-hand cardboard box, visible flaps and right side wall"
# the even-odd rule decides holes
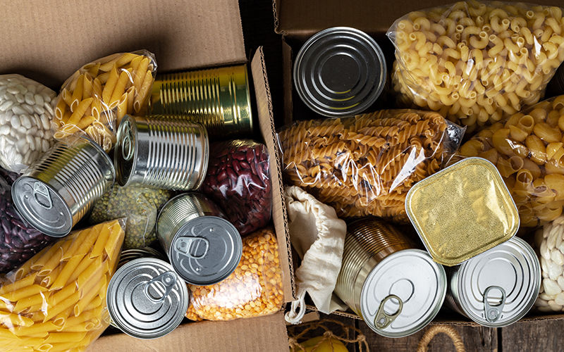
[[[59,90],[96,58],[147,49],[158,73],[247,63],[237,0],[0,0],[0,74],[20,73]],[[271,153],[273,222],[286,301],[294,296],[281,159],[262,49],[249,65],[257,132]],[[229,322],[192,322],[161,339],[104,336],[90,351],[287,351],[283,313]]]

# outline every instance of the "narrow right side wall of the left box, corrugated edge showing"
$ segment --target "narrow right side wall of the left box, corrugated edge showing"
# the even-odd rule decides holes
[[[272,99],[268,76],[266,75],[262,46],[257,49],[255,56],[252,58],[251,72],[252,80],[255,84],[255,95],[257,97],[259,128],[264,142],[266,143],[266,148],[271,156],[272,220],[274,221],[274,230],[276,230],[276,237],[278,239],[280,265],[283,270],[284,300],[290,302],[295,299],[292,247],[290,245],[290,232],[288,230],[288,213],[283,196],[282,157],[280,148],[278,147],[278,137],[274,128]],[[283,244],[286,244],[286,246],[283,246]]]

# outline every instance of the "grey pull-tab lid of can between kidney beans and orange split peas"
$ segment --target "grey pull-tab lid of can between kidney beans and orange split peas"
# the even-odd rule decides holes
[[[200,216],[180,227],[168,257],[185,282],[206,286],[231,275],[242,254],[243,241],[231,222]]]

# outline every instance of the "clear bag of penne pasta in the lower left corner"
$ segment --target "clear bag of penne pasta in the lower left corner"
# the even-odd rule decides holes
[[[125,221],[72,232],[0,277],[0,350],[84,351],[109,325]]]

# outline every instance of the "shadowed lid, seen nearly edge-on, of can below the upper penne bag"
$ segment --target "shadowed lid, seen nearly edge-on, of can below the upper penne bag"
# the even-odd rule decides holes
[[[137,124],[135,118],[125,115],[118,127],[114,148],[114,168],[120,186],[128,184],[137,163]]]

